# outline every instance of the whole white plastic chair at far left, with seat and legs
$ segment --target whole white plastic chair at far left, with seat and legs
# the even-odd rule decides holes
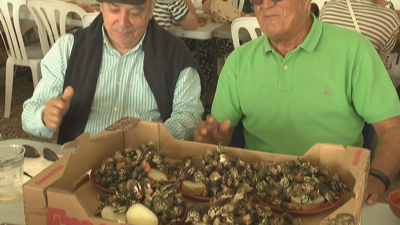
[[[9,5],[12,5],[12,10],[10,10]],[[5,37],[3,35],[1,37],[8,55],[6,62],[5,118],[10,117],[14,66],[29,66],[31,68],[34,87],[41,78],[40,61],[43,58],[41,47],[40,45],[25,46],[22,38],[19,14],[20,8],[24,5],[26,5],[26,0],[0,0],[0,22],[5,32]]]

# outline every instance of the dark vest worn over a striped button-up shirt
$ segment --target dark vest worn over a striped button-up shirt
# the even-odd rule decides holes
[[[60,126],[58,144],[75,140],[86,127],[102,60],[102,26],[103,16],[100,13],[89,27],[74,33],[74,45],[64,79],[64,89],[72,86],[74,96]],[[180,72],[193,67],[199,73],[202,84],[204,78],[183,41],[161,28],[154,19],[149,21],[142,48],[145,53],[144,76],[165,121],[171,116]]]

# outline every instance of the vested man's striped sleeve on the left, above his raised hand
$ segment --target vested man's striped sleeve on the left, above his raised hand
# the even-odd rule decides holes
[[[41,61],[42,79],[33,95],[23,104],[22,129],[37,137],[51,138],[56,130],[46,127],[42,114],[46,103],[63,92],[64,75],[71,53],[74,37],[60,37]]]

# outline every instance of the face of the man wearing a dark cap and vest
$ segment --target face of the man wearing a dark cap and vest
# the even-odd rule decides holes
[[[135,6],[102,3],[104,27],[111,44],[117,50],[130,50],[142,38],[152,17],[150,0]]]

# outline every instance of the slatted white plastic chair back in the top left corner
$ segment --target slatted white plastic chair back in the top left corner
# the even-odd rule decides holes
[[[26,0],[0,0],[0,22],[5,33],[5,37],[3,35],[1,37],[8,56],[12,57],[14,63],[18,65],[28,65],[19,20],[20,9],[24,5],[26,5]]]

